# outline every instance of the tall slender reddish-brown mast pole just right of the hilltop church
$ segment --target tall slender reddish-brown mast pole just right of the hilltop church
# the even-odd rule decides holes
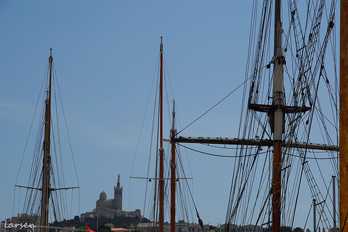
[[[159,72],[159,232],[164,232],[164,148],[163,148],[163,44],[160,45]]]

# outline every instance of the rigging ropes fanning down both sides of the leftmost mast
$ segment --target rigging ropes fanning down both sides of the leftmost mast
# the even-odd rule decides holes
[[[58,81],[56,80],[56,71],[54,68],[54,64],[52,63],[52,93],[54,94],[53,98],[52,98],[52,102],[55,102],[56,104],[54,104],[55,108],[53,108],[53,110],[56,110],[56,113],[52,114],[56,116],[56,125],[51,124],[51,130],[52,130],[52,149],[51,149],[51,156],[52,156],[52,160],[55,158],[56,163],[51,164],[51,194],[50,194],[50,204],[52,204],[52,214],[54,216],[54,219],[58,220],[58,219],[63,219],[64,218],[68,218],[68,197],[66,195],[65,191],[57,191],[59,189],[61,189],[61,187],[63,187],[65,185],[65,179],[64,179],[64,174],[63,174],[63,152],[62,152],[62,147],[61,147],[61,131],[60,131],[60,124],[58,123],[58,100],[56,97],[56,93],[58,91],[59,94],[59,98],[60,98],[60,103],[61,103],[61,108],[63,110],[63,118],[64,118],[64,122],[65,122],[65,129],[66,132],[68,134],[68,142],[70,144],[70,152],[72,155],[72,163],[74,165],[74,171],[76,174],[76,178],[77,178],[77,183],[79,184],[79,180],[78,180],[78,176],[77,176],[77,169],[76,169],[76,165],[74,162],[74,156],[72,153],[72,145],[71,145],[71,141],[70,141],[70,135],[68,132],[68,126],[67,126],[67,122],[66,122],[66,118],[65,118],[65,113],[64,113],[64,109],[63,109],[63,103],[62,103],[62,99],[61,99],[61,92],[59,90],[59,86],[58,86]],[[40,188],[42,188],[41,183],[42,183],[42,157],[43,157],[43,150],[42,150],[42,141],[43,139],[43,128],[44,128],[44,124],[45,124],[45,100],[47,99],[47,97],[45,96],[45,94],[42,94],[42,92],[44,92],[43,90],[45,90],[45,88],[47,86],[49,86],[48,80],[49,80],[49,74],[48,74],[48,70],[49,70],[49,63],[47,64],[46,70],[45,70],[45,75],[44,78],[42,79],[42,85],[41,85],[41,89],[40,89],[40,94],[38,97],[38,101],[36,103],[35,106],[35,110],[34,110],[34,114],[33,114],[33,119],[31,121],[31,126],[29,129],[29,134],[28,137],[26,139],[26,144],[24,147],[24,152],[22,154],[22,159],[21,159],[21,163],[19,165],[19,171],[17,174],[17,178],[15,181],[15,187],[19,187],[21,188],[21,186],[17,185],[17,181],[19,179],[19,172],[22,169],[22,164],[24,161],[24,155],[27,153],[27,147],[29,144],[29,138],[31,138],[31,131],[33,129],[33,122],[35,117],[39,117],[39,122],[38,122],[38,133],[36,134],[36,138],[35,138],[35,143],[33,145],[34,148],[34,153],[33,153],[33,158],[32,158],[32,162],[31,162],[31,167],[30,167],[30,173],[29,173],[29,177],[28,177],[28,187],[26,188],[26,194],[24,197],[24,204],[23,204],[23,210],[22,213],[24,213],[24,215],[26,215],[25,217],[32,217],[31,215],[40,215],[40,210],[41,210],[41,204],[40,204]],[[58,89],[56,89],[56,88]],[[38,106],[39,106],[39,102],[41,102],[41,98],[43,97],[43,101],[41,104],[41,113],[38,113]],[[55,129],[57,131],[57,135],[58,137],[56,137],[54,135],[55,133]],[[57,142],[57,144],[55,144],[55,142]],[[56,146],[57,145],[57,146]],[[22,186],[24,187],[24,186]],[[19,202],[18,202],[18,208],[19,205],[21,204],[21,199],[20,199],[20,194],[21,191],[19,190]],[[73,192],[72,192],[73,194]],[[15,198],[15,192],[14,192],[14,198]],[[15,201],[13,201],[15,202]],[[71,199],[71,206],[72,206],[72,202],[73,200]],[[57,204],[59,203],[59,204]],[[13,206],[13,210],[14,210],[14,206]],[[63,210],[63,211],[62,211]],[[19,212],[19,209],[18,209]],[[70,216],[72,214],[72,208],[70,208]]]

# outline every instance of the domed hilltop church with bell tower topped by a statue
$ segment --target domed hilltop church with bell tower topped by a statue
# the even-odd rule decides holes
[[[126,212],[122,210],[122,190],[120,186],[120,174],[116,187],[113,186],[113,199],[106,199],[106,193],[102,191],[92,212],[81,213],[81,219],[86,217],[141,217],[140,209]]]

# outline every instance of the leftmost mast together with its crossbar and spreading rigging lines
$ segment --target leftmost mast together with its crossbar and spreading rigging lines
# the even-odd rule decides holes
[[[17,182],[19,181],[18,178],[15,183],[15,188],[19,188],[19,191],[22,188],[26,190],[26,197],[23,200],[24,204],[22,213],[19,214],[20,222],[29,222],[31,224],[34,224],[41,232],[49,231],[49,220],[58,222],[63,221],[63,219],[67,218],[67,215],[65,215],[66,212],[62,212],[62,209],[68,208],[68,206],[66,206],[68,205],[68,197],[66,197],[65,193],[63,193],[63,191],[61,190],[73,190],[79,188],[78,186],[65,187],[63,185],[65,183],[65,181],[62,180],[64,174],[61,173],[64,171],[63,160],[68,160],[68,156],[63,157],[63,154],[61,154],[61,138],[59,137],[61,133],[58,133],[58,136],[53,135],[52,133],[54,130],[58,132],[60,131],[58,126],[59,124],[57,123],[55,125],[52,122],[52,92],[54,92],[54,94],[57,94],[57,92],[59,93],[58,88],[52,88],[53,83],[57,83],[57,80],[52,80],[54,77],[56,76],[54,76],[54,65],[51,48],[49,54],[49,63],[47,67],[47,76],[45,75],[42,85],[46,86],[47,88],[45,90],[45,99],[42,105],[42,118],[39,119],[38,124],[38,134],[36,135],[31,173],[26,174],[26,176],[29,176],[27,185],[17,184]],[[54,96],[54,99],[56,98],[57,97]],[[55,109],[58,108],[56,101],[54,101],[54,106],[56,106]],[[54,112],[54,115],[58,115],[58,113]],[[64,121],[66,122],[66,120]],[[65,129],[67,129],[66,125]],[[66,133],[68,136],[68,131],[66,131]],[[52,138],[56,138],[59,143],[52,143]],[[71,147],[70,151],[72,152]],[[23,156],[25,154],[26,151],[24,151]],[[54,160],[55,162],[52,163],[52,160]],[[74,165],[73,157],[71,162]],[[19,167],[19,174],[20,172],[21,167]],[[78,185],[77,176],[76,181]],[[73,201],[73,199],[71,198],[70,201]],[[66,205],[62,206],[61,204]],[[72,203],[70,203],[70,206],[72,206]],[[38,224],[38,222],[40,224]]]

